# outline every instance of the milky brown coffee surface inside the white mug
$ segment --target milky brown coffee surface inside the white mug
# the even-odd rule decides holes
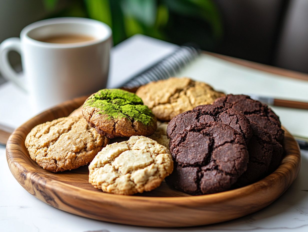
[[[48,36],[38,40],[45,43],[80,43],[94,39],[95,38],[93,36],[88,35],[67,34]]]

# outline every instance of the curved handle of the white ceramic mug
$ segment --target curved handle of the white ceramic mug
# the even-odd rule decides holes
[[[0,44],[0,71],[5,79],[12,81],[23,91],[28,92],[24,83],[18,78],[18,73],[12,68],[8,59],[8,53],[16,51],[20,54],[20,39],[17,37],[4,40]]]

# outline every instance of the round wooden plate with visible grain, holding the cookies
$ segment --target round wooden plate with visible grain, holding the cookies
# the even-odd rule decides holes
[[[65,102],[17,128],[6,145],[6,158],[16,180],[29,193],[60,210],[83,217],[138,226],[180,227],[223,222],[268,206],[289,188],[298,174],[301,157],[286,131],[286,156],[278,169],[252,185],[222,193],[190,196],[165,182],[151,192],[134,196],[103,193],[88,183],[87,166],[51,173],[30,159],[26,135],[41,123],[67,116],[85,98]]]

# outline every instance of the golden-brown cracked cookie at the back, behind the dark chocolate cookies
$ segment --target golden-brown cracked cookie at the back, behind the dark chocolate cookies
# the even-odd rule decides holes
[[[136,94],[161,121],[170,121],[180,113],[198,105],[212,104],[216,98],[224,96],[208,84],[186,77],[148,83],[141,86]]]

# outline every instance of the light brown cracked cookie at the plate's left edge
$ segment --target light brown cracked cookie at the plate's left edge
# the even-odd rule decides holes
[[[90,163],[108,141],[85,119],[72,116],[37,125],[26,136],[25,145],[39,166],[59,172]]]

